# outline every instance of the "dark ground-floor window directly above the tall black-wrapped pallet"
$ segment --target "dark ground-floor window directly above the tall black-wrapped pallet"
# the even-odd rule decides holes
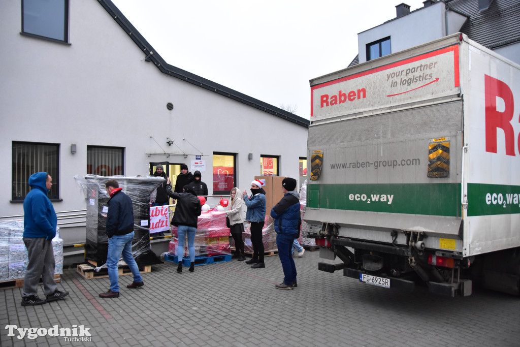
[[[87,146],[87,174],[123,175],[123,154],[121,147]]]

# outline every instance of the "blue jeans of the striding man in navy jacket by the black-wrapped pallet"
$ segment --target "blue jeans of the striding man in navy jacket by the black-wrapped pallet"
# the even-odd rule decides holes
[[[126,235],[114,235],[108,239],[107,268],[110,278],[110,290],[119,292],[118,261],[123,255],[123,260],[132,271],[134,281],[142,282],[139,267],[132,256],[132,240],[134,232]]]

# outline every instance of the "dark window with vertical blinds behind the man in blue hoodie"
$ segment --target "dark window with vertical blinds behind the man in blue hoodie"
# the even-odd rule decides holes
[[[59,200],[59,144],[12,142],[12,192],[11,201],[23,201],[29,192],[29,177],[36,172],[46,172],[53,177],[53,186],[47,195]]]

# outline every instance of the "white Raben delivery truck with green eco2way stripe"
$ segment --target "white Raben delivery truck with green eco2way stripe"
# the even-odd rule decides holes
[[[310,80],[304,220],[336,260],[318,268],[518,294],[519,81],[520,66],[462,33]]]

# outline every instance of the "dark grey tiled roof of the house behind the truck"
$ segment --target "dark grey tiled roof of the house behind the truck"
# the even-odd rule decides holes
[[[478,1],[444,0],[450,9],[469,17],[461,32],[471,40],[490,49],[520,42],[520,2],[518,0],[493,0],[483,11]]]

